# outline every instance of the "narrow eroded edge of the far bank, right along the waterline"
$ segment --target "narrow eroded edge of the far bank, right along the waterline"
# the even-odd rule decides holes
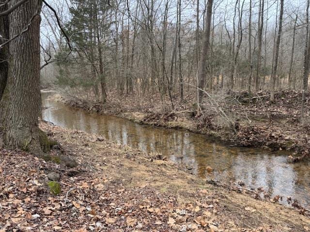
[[[61,95],[55,91],[55,94],[48,97],[50,100],[54,100],[56,102],[62,102],[68,106],[76,107],[79,109],[83,109],[89,112],[96,112],[99,114],[117,116],[124,119],[128,119],[135,123],[139,123],[141,125],[149,125],[153,127],[163,127],[167,129],[177,129],[190,131],[193,133],[198,133],[205,135],[206,138],[210,141],[216,141],[217,143],[229,146],[239,146],[239,147],[253,147],[253,148],[261,148],[268,151],[287,151],[288,158],[291,161],[298,161],[299,157],[302,157],[304,153],[308,154],[307,145],[301,141],[300,138],[290,138],[286,139],[285,134],[281,134],[282,131],[275,131],[277,135],[268,134],[267,136],[262,133],[262,138],[254,138],[256,134],[259,134],[260,131],[257,130],[258,127],[262,124],[257,124],[254,126],[244,126],[244,131],[242,131],[242,138],[232,130],[227,128],[222,129],[202,129],[199,128],[197,121],[193,120],[188,116],[175,116],[173,113],[168,114],[150,114],[144,112],[122,112],[122,110],[111,110],[105,109],[105,106],[98,102],[86,102],[82,99],[69,97],[66,95]],[[175,119],[176,118],[176,119]],[[266,125],[264,125],[266,127]],[[248,132],[250,136],[244,136],[243,134]],[[245,138],[247,137],[247,138]],[[240,141],[239,139],[242,139]],[[263,140],[263,142],[258,141]],[[306,152],[304,152],[306,151]]]

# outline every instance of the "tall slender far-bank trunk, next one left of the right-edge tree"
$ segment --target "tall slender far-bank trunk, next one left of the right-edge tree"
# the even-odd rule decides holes
[[[279,29],[276,43],[276,52],[275,52],[275,61],[271,73],[271,83],[270,83],[270,101],[275,100],[275,84],[276,84],[276,75],[278,68],[278,59],[279,59],[279,46],[281,41],[281,31],[282,31],[282,18],[283,18],[283,4],[284,0],[280,1],[280,15],[279,15]]]

